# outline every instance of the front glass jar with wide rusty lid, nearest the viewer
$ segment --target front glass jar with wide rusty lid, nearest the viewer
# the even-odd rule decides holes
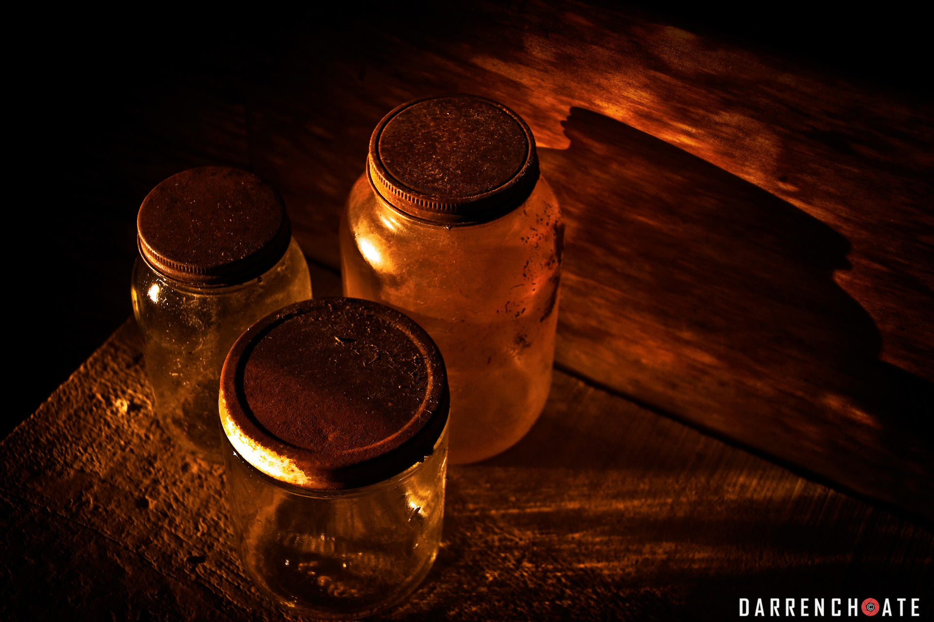
[[[441,542],[448,393],[432,339],[402,313],[318,298],[252,325],[219,412],[243,566],[285,607],[384,610]]]

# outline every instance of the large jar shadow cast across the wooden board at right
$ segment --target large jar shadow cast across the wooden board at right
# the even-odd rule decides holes
[[[930,518],[931,384],[880,362],[842,235],[614,119],[563,126],[540,150],[568,221],[559,362]]]

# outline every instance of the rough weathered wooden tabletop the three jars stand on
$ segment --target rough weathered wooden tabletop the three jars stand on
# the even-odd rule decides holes
[[[0,444],[0,615],[294,619],[243,574],[222,469],[153,415],[140,345],[121,326]],[[723,619],[934,578],[932,532],[560,372],[530,435],[447,490],[432,573],[382,619]]]

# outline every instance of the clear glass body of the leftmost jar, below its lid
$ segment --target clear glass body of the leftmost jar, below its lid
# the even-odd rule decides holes
[[[302,249],[293,239],[270,270],[247,283],[222,287],[180,283],[137,257],[131,294],[156,414],[185,449],[219,463],[224,357],[249,325],[311,297]]]

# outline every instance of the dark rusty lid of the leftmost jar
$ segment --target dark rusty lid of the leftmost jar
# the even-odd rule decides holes
[[[276,188],[221,166],[184,171],[154,187],[139,208],[136,233],[139,253],[153,270],[201,286],[260,276],[291,239]]]

